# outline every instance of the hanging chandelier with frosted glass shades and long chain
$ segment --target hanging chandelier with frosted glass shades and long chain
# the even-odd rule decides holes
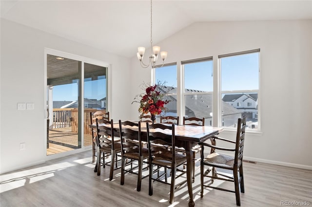
[[[152,40],[152,25],[153,25],[153,21],[152,21],[152,0],[151,0],[151,55],[149,56],[149,63],[148,64],[144,64],[143,63],[143,56],[145,53],[145,48],[144,47],[138,47],[137,48],[137,59],[140,61],[140,64],[142,66],[142,68],[148,68],[150,65],[152,66],[152,68],[155,67],[156,65],[156,61],[157,58],[159,56],[159,52],[160,52],[160,47],[159,46],[154,46],[153,47],[153,40]],[[160,56],[162,59],[162,66],[164,65],[164,61],[167,58],[167,52],[166,51],[162,51],[160,52]]]

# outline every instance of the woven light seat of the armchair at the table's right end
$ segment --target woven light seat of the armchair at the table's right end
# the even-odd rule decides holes
[[[233,169],[234,157],[229,155],[222,155],[218,153],[212,153],[207,155],[203,160],[204,164],[214,165],[216,167],[231,168]],[[238,166],[241,165],[241,160],[238,160]]]

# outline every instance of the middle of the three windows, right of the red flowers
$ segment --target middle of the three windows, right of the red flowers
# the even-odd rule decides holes
[[[212,57],[182,61],[184,69],[183,104],[185,117],[205,118],[212,125],[213,61]]]

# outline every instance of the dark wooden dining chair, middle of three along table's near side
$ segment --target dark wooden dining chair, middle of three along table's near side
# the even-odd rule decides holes
[[[137,130],[131,127],[135,127]],[[135,123],[132,121],[119,120],[119,133],[121,144],[120,185],[124,185],[125,173],[137,174],[137,191],[140,191],[142,179],[148,177],[148,175],[142,177],[143,161],[147,160],[149,156],[148,149],[142,147],[141,122],[139,121],[138,123]],[[126,160],[131,161],[126,163]],[[132,165],[134,161],[137,161],[136,167],[133,167]],[[131,168],[126,169],[126,166],[129,165],[131,165]]]

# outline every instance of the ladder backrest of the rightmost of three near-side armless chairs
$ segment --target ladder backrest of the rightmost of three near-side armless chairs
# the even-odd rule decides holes
[[[164,133],[164,130],[170,130],[170,133]],[[168,131],[167,131],[168,132]],[[151,145],[156,143],[160,145],[175,146],[175,124],[164,125],[161,123],[149,124],[146,122],[146,136],[148,141],[149,159],[153,160],[153,154],[172,153],[172,163],[176,161],[176,148],[170,150],[164,146]]]

